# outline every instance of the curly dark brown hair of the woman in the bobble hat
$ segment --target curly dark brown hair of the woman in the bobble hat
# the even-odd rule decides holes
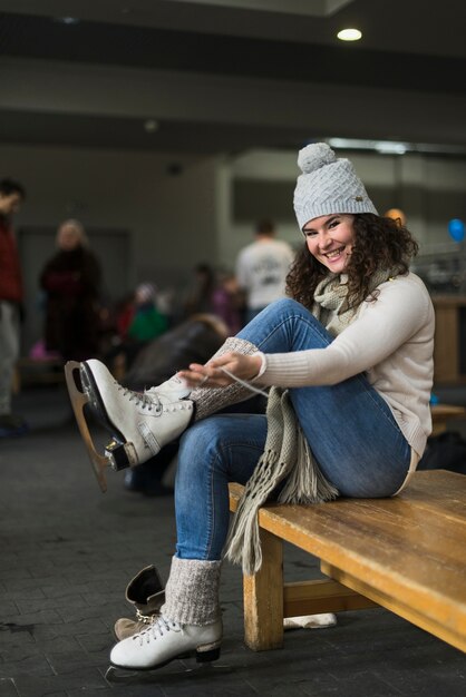
[[[355,244],[346,268],[348,302],[357,307],[369,295],[370,278],[377,269],[392,269],[394,275],[406,274],[410,259],[418,252],[411,233],[399,220],[372,213],[353,216]],[[287,295],[312,308],[317,285],[329,269],[309,252],[300,249],[287,276]]]

